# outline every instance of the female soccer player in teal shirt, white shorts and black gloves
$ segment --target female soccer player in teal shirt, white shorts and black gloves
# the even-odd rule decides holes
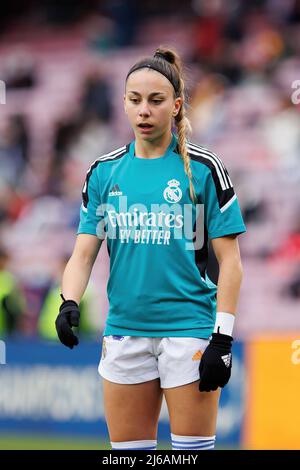
[[[110,308],[99,373],[112,449],[156,449],[163,395],[172,448],[213,449],[220,387],[230,378],[242,278],[237,235],[245,226],[220,158],[187,140],[174,51],[159,48],[131,67],[124,107],[135,140],[87,172],[57,333],[66,346],[78,344],[78,303],[106,237]],[[210,241],[218,286],[207,275]]]

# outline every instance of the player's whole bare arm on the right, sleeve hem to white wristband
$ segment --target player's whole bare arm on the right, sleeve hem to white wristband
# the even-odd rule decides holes
[[[219,262],[217,312],[235,315],[243,269],[236,236],[214,238],[212,247]]]

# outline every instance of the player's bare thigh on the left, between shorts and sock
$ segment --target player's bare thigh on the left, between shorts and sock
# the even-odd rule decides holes
[[[111,441],[156,439],[163,398],[159,379],[125,385],[103,379],[103,394]]]

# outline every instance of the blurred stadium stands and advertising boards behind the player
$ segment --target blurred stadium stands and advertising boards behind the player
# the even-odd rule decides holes
[[[223,159],[248,229],[218,448],[300,448],[299,0],[10,0],[0,15],[1,449],[108,448],[104,247],[79,348],[57,343],[54,319],[85,173],[132,140],[124,79],[160,44],[187,65],[192,140]],[[165,405],[159,440],[169,448]]]

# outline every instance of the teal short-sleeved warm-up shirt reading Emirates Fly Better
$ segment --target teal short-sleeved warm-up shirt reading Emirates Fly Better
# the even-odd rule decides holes
[[[137,157],[133,141],[87,172],[78,233],[107,239],[104,335],[209,338],[213,331],[208,243],[246,229],[222,161],[192,143],[188,151],[197,207],[175,135],[162,157]]]

